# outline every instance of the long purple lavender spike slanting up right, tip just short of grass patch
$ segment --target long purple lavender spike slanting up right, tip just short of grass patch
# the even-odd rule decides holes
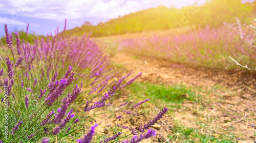
[[[108,93],[105,93],[104,96],[101,97],[101,100],[99,102],[95,102],[94,105],[91,105],[88,107],[88,102],[87,102],[87,105],[86,107],[84,107],[83,111],[90,111],[92,109],[100,108],[104,106],[105,101],[116,93],[116,90],[120,87],[121,83],[122,83],[122,79],[119,79],[119,82],[117,84],[114,84],[112,89],[109,90]]]

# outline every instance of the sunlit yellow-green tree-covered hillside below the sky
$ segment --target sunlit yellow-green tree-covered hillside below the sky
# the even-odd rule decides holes
[[[93,37],[102,37],[189,25],[217,27],[224,21],[234,22],[235,18],[246,22],[251,11],[252,7],[248,3],[242,4],[240,0],[212,0],[200,7],[195,5],[181,9],[158,6],[119,16],[98,25],[84,22],[81,27],[75,27],[67,33],[80,36],[92,32]]]

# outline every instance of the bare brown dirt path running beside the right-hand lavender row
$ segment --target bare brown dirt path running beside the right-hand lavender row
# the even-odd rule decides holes
[[[173,120],[180,121],[188,127],[195,127],[196,118],[202,122],[214,122],[211,126],[220,126],[226,131],[232,128],[229,132],[240,134],[241,138],[250,141],[256,137],[253,134],[256,132],[256,97],[253,97],[256,93],[256,82],[250,75],[240,70],[212,70],[172,64],[154,58],[135,58],[124,52],[117,52],[111,61],[123,65],[127,71],[133,71],[132,76],[142,72],[142,77],[138,79],[140,81],[184,84],[188,87],[212,90],[211,95],[200,93],[207,98],[201,105],[183,103],[184,109],[174,112]],[[223,88],[213,89],[216,85]],[[204,110],[198,110],[202,105]],[[162,133],[170,134],[172,131],[162,130]],[[212,134],[218,136],[222,132],[212,131]]]

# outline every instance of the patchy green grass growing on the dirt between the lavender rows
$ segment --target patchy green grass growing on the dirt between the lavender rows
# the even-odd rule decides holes
[[[209,92],[214,92],[221,87],[212,87],[211,91],[204,91],[207,95]],[[201,88],[197,88],[195,90],[191,90],[190,88],[185,87],[184,85],[174,85],[168,86],[165,84],[153,84],[153,83],[139,83],[135,82],[129,87],[127,87],[126,91],[130,96],[130,99],[134,99],[135,102],[142,101],[146,98],[149,98],[151,104],[155,105],[158,108],[162,106],[167,106],[169,108],[168,116],[176,116],[174,114],[174,109],[183,108],[185,106],[182,103],[185,100],[193,101],[195,104],[198,104],[198,109],[205,110],[204,102],[210,102],[210,100],[206,100],[207,96],[196,96],[196,93],[193,91],[203,91]],[[188,96],[184,96],[184,95]],[[205,99],[206,98],[206,99]],[[147,106],[148,104],[144,104],[142,106]],[[159,104],[161,103],[161,104]],[[193,104],[194,104],[193,103]],[[184,112],[185,111],[185,112]],[[191,112],[188,110],[184,110],[183,113]],[[230,130],[233,129],[220,129],[219,127],[211,126],[213,120],[217,120],[216,118],[210,118],[205,121],[200,121],[200,117],[204,115],[198,115],[199,117],[195,120],[196,126],[186,127],[182,122],[178,120],[172,121],[173,127],[170,129],[172,133],[168,135],[167,142],[216,142],[216,143],[231,143],[238,142],[236,140],[236,135],[230,133]],[[223,133],[220,133],[219,130],[222,130]]]

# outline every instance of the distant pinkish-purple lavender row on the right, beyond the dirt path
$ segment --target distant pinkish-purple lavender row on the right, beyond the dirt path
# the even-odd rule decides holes
[[[228,58],[231,56],[250,69],[256,67],[254,31],[239,20],[236,25],[224,24],[216,29],[206,26],[179,35],[124,39],[119,44],[121,50],[182,64],[225,68],[234,65]]]

